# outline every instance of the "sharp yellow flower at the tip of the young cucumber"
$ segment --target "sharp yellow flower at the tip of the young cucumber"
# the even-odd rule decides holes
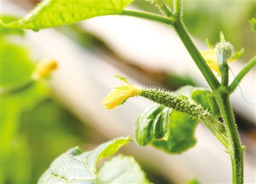
[[[103,99],[102,105],[104,106],[104,109],[115,109],[119,105],[124,104],[128,98],[138,96],[142,92],[142,89],[132,86],[132,84],[129,84],[124,77],[119,75],[115,75],[114,77],[117,77],[127,84],[116,87]]]

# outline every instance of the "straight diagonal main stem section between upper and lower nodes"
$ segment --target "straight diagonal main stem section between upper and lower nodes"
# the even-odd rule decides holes
[[[190,56],[193,58],[193,60],[196,63],[196,66],[199,68],[201,73],[204,75],[205,80],[208,82],[209,86],[211,87],[212,91],[216,91],[218,87],[220,86],[220,82],[215,77],[214,73],[212,73],[211,68],[207,65],[204,58],[200,54],[199,50],[196,48],[195,44],[191,40],[188,31],[186,30],[186,27],[184,26],[184,23],[182,20],[177,20],[175,24],[173,24],[173,27],[177,31],[177,33],[180,36],[180,39],[184,43],[186,49],[188,50]]]

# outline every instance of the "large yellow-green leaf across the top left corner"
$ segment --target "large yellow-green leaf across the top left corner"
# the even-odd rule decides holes
[[[24,18],[1,24],[4,27],[40,29],[61,26],[102,15],[119,15],[133,0],[84,1],[45,0]]]

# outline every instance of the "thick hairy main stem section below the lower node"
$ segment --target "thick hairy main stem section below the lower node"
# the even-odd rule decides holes
[[[229,95],[222,93],[216,96],[220,105],[223,121],[226,125],[229,141],[228,153],[232,162],[232,181],[236,184],[243,183],[243,147],[239,139],[236,121],[230,105]]]

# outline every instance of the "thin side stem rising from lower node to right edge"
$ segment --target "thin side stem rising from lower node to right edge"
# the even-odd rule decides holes
[[[256,56],[254,56],[245,66],[244,68],[241,70],[241,72],[238,73],[238,75],[236,76],[236,79],[234,79],[234,81],[230,84],[230,86],[228,87],[228,92],[229,94],[231,94],[233,91],[235,91],[235,89],[237,88],[237,86],[239,85],[239,82],[242,81],[242,79],[244,78],[244,76],[250,71],[252,70],[252,68],[256,65]]]

